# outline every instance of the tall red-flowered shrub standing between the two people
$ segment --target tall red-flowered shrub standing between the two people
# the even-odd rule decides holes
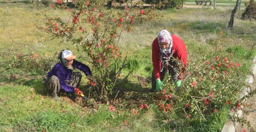
[[[45,31],[53,38],[64,38],[80,45],[78,49],[85,51],[93,64],[93,78],[97,82],[93,93],[97,99],[106,101],[118,93],[113,88],[125,67],[126,56],[118,45],[121,34],[130,33],[136,23],[151,20],[153,11],[128,6],[123,10],[106,9],[95,0],[73,0],[73,4],[75,9],[63,4],[52,5],[70,11],[71,18],[64,21],[60,17],[47,17]]]

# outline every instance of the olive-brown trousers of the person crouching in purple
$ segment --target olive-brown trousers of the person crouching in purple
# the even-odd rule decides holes
[[[73,72],[71,79],[65,80],[65,82],[67,85],[77,88],[81,82],[81,78],[82,74],[80,72]],[[58,93],[62,91],[60,87],[60,80],[54,75],[52,77],[45,76],[42,83],[51,97],[56,97]]]

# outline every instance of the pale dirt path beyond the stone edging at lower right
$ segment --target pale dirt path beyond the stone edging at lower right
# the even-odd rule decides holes
[[[253,87],[250,91],[256,92],[256,77],[254,79]],[[248,112],[248,114],[244,114],[244,119],[250,121],[250,125],[256,131],[256,94],[246,100],[246,103],[249,104],[248,107],[244,107],[244,109]],[[245,113],[245,112],[244,112]],[[248,129],[246,124],[244,126],[238,126],[237,132],[241,132],[242,130],[246,130],[245,132],[253,132]]]

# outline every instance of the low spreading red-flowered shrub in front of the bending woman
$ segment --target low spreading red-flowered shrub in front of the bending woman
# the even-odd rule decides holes
[[[233,62],[232,54],[221,51],[220,47],[208,57],[208,60],[205,56],[201,58],[206,60],[202,64],[198,64],[198,60],[189,60],[180,88],[175,88],[171,77],[167,77],[165,89],[153,95],[158,110],[165,117],[171,116],[168,114],[171,112],[179,115],[177,122],[202,121],[225,105],[241,109],[241,105],[235,103],[244,81],[239,72],[241,64]]]

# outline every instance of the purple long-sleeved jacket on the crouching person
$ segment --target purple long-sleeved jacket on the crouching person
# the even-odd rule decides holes
[[[80,71],[83,71],[83,73],[86,76],[91,76],[91,70],[89,68],[89,66],[84,65],[83,63],[74,60],[72,66],[74,68],[77,68]],[[54,65],[53,69],[51,69],[51,71],[48,72],[47,76],[48,77],[52,77],[52,76],[56,76],[59,78],[60,80],[60,88],[67,92],[67,93],[73,93],[75,88],[71,87],[69,85],[66,84],[65,80],[70,80],[71,79],[71,75],[72,75],[72,70],[70,69],[66,69],[61,63],[60,61]]]

